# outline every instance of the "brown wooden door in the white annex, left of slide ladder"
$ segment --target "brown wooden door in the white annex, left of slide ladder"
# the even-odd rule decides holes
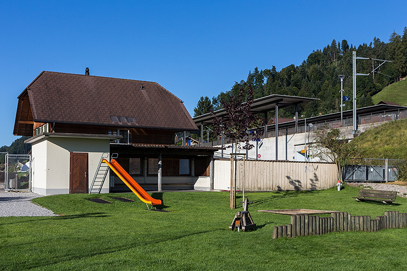
[[[69,193],[87,193],[87,153],[71,153],[69,173]]]

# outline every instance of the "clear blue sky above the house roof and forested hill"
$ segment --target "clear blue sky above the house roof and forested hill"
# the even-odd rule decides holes
[[[0,146],[18,138],[17,96],[43,70],[154,81],[193,115],[200,96],[230,90],[255,67],[299,65],[333,39],[357,46],[402,34],[406,3],[387,3],[3,1]]]

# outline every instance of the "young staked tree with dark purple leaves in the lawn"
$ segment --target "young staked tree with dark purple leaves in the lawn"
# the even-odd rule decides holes
[[[261,118],[250,112],[251,104],[253,103],[253,89],[251,85],[248,86],[247,91],[241,88],[237,95],[231,97],[229,102],[221,101],[223,108],[226,109],[226,116],[224,118],[214,116],[214,131],[217,134],[224,134],[232,143],[235,155],[232,155],[232,163],[235,162],[234,169],[234,184],[231,187],[231,208],[236,208],[236,154],[240,150],[250,150],[254,145],[250,144],[252,139],[261,137],[261,133],[249,134],[248,130],[261,123]],[[263,120],[264,123],[264,120]],[[241,145],[243,143],[243,145]],[[228,148],[231,148],[229,146]],[[234,161],[233,161],[234,160]],[[232,191],[234,201],[232,200]]]

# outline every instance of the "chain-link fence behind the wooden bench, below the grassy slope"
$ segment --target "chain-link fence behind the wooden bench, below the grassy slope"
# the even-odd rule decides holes
[[[347,182],[393,182],[405,160],[353,158],[346,165],[343,179]]]

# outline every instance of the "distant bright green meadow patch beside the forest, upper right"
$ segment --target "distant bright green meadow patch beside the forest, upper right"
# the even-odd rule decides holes
[[[407,106],[407,79],[386,86],[379,93],[373,95],[372,100],[374,104],[379,101],[391,101]]]

